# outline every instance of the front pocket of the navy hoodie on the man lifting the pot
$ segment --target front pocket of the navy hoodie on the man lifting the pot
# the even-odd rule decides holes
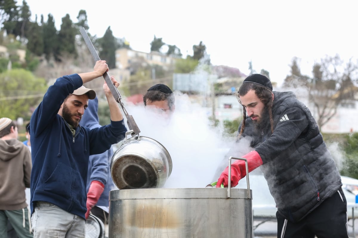
[[[71,199],[73,169],[58,162],[50,177],[44,183],[44,191]]]

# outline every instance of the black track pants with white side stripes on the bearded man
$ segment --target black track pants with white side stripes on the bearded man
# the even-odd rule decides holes
[[[292,223],[277,212],[277,238],[348,238],[347,201],[340,188],[303,220]]]

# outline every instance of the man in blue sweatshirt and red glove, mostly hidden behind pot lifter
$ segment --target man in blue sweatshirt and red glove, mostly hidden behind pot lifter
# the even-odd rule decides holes
[[[89,129],[99,128],[98,98],[88,101],[86,112],[82,116],[81,125]],[[116,188],[111,176],[112,148],[102,154],[94,154],[89,157],[87,175],[87,212],[108,223],[109,192]],[[97,189],[97,187],[99,189]]]

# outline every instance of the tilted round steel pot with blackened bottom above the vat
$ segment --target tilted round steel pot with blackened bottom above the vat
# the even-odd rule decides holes
[[[126,132],[125,142],[112,156],[111,175],[119,189],[161,188],[173,164],[168,150],[149,137]]]

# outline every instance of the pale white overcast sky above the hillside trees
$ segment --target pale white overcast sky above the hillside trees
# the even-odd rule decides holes
[[[326,55],[357,59],[357,1],[84,1],[27,0],[32,12],[54,16],[60,29],[68,13],[77,22],[79,10],[88,17],[88,32],[102,37],[108,26],[125,37],[134,50],[149,52],[154,35],[182,54],[192,55],[203,41],[214,65],[227,65],[249,74],[248,62],[259,73],[270,72],[281,85],[294,56],[301,73],[311,76],[312,65]],[[22,4],[22,1],[18,1]]]

